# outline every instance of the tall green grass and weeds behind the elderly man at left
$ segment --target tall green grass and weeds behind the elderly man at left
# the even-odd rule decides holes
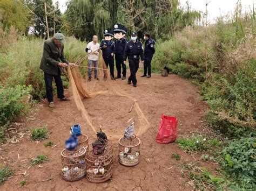
[[[43,71],[39,69],[43,43],[42,39],[19,37],[0,53],[0,139],[4,134],[3,126],[29,111],[31,98],[42,100],[45,97]],[[64,48],[66,58],[76,61],[85,55],[85,46],[75,38],[67,38]],[[68,86],[67,77],[64,75],[62,78],[64,85]]]

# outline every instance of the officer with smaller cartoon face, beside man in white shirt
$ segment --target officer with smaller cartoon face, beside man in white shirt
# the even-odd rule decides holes
[[[113,31],[104,31],[105,39],[100,43],[100,48],[102,49],[103,59],[106,63],[106,67],[110,68],[111,79],[114,80],[114,42],[112,41],[114,37]],[[104,78],[104,80],[106,80]]]

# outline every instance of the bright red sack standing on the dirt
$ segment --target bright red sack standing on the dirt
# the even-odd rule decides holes
[[[170,143],[174,142],[177,138],[177,117],[166,116],[162,114],[159,124],[159,130],[157,133],[156,142],[158,143]]]

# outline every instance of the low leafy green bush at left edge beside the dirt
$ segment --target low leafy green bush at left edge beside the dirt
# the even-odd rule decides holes
[[[31,86],[3,87],[0,85],[0,126],[13,122],[28,112],[31,105],[29,97],[31,89]]]

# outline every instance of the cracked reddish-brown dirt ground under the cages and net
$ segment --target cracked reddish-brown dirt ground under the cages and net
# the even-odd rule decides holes
[[[90,148],[95,135],[87,127],[80,115],[69,89],[65,90],[66,96],[71,101],[59,102],[57,98],[56,108],[50,109],[46,102],[39,103],[34,108],[35,112],[23,124],[26,134],[18,136],[18,144],[9,144],[2,147],[0,163],[9,165],[15,169],[15,175],[0,186],[1,190],[193,190],[187,182],[187,176],[182,176],[181,164],[195,161],[209,171],[214,171],[214,165],[198,160],[200,155],[184,153],[177,143],[158,144],[156,135],[161,114],[178,117],[178,138],[190,133],[203,131],[202,117],[207,105],[201,101],[196,86],[177,75],[161,77],[153,74],[151,79],[145,79],[137,74],[138,87],[133,88],[126,80],[117,80],[131,96],[137,98],[140,108],[150,122],[150,128],[140,136],[142,140],[140,163],[134,167],[125,167],[118,162],[118,140],[114,143],[114,163],[112,179],[104,183],[90,183],[86,178],[76,182],[66,182],[60,176],[61,160],[60,152],[64,148],[64,142],[69,137],[69,128],[74,123],[82,126],[82,132],[89,136]],[[88,83],[89,90],[107,90],[106,82],[100,79]],[[127,121],[134,117],[136,112],[128,112],[132,102],[127,98],[113,95],[110,90],[105,95],[83,100],[86,110],[92,119],[93,125],[99,128],[102,125],[107,136],[120,135],[126,128]],[[51,131],[49,139],[39,143],[29,139],[30,132],[25,129],[38,128],[47,124]],[[137,124],[139,126],[139,123]],[[22,137],[22,138],[19,138]],[[44,147],[44,143],[53,141],[57,146]],[[30,166],[31,158],[44,153],[49,161],[39,167]],[[171,158],[172,153],[179,153],[181,159],[177,161]],[[19,155],[19,158],[18,158]],[[23,175],[22,173],[25,173]],[[29,175],[28,175],[29,174]],[[25,187],[19,186],[21,180],[26,180]]]

